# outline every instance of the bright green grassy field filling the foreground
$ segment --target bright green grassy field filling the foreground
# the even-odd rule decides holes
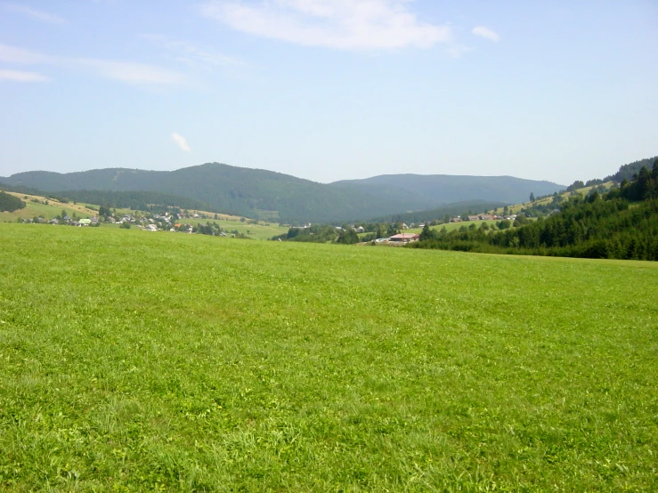
[[[0,245],[4,491],[658,489],[658,263]]]

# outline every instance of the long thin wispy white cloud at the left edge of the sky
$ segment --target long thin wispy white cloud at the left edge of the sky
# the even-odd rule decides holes
[[[85,69],[97,76],[118,80],[127,84],[181,85],[188,81],[187,77],[179,72],[163,69],[155,65],[93,58],[55,57],[6,44],[0,44],[0,62]]]

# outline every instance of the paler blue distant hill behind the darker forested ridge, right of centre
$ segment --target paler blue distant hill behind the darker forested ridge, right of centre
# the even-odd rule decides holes
[[[516,204],[535,196],[564,190],[565,186],[553,182],[537,182],[512,176],[460,176],[449,174],[382,174],[364,180],[343,180],[331,186],[359,190],[387,199],[403,197],[422,200],[425,208],[434,208],[455,202],[483,200]]]

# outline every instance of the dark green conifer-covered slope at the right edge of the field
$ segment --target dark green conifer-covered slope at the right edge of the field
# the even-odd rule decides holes
[[[601,197],[576,194],[559,214],[516,229],[491,232],[472,223],[454,231],[433,231],[413,247],[486,253],[556,255],[658,261],[658,159],[643,166],[632,182],[624,180]]]

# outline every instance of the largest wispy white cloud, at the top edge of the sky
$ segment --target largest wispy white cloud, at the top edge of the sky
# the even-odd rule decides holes
[[[451,43],[451,28],[422,22],[412,0],[213,0],[203,14],[236,30],[307,46],[387,50]]]

